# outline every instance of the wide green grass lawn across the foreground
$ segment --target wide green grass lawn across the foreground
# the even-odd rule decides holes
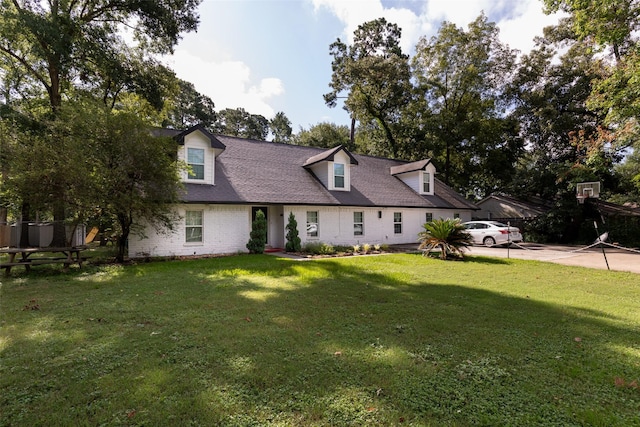
[[[0,425],[640,425],[640,275],[235,256],[0,288]]]

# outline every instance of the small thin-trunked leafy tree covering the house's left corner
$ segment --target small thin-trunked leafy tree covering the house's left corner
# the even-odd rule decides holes
[[[152,136],[135,115],[104,113],[103,120],[96,134],[96,201],[119,225],[116,259],[123,261],[130,234],[142,236],[145,225],[174,229],[180,168],[175,141]]]

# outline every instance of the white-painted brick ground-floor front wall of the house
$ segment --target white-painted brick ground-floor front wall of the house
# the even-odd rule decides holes
[[[247,252],[246,244],[251,231],[251,206],[244,205],[181,205],[177,208],[182,220],[172,234],[156,234],[153,228],[146,231],[147,238],[129,238],[129,256],[187,256]],[[203,212],[203,242],[186,243],[184,216],[187,210]],[[307,211],[318,211],[318,237],[309,238],[306,233]],[[303,245],[307,241],[334,245],[368,243],[401,244],[416,243],[418,233],[423,230],[426,213],[434,219],[453,218],[454,211],[428,210],[424,208],[359,208],[324,206],[270,206],[269,242],[274,247],[284,247],[285,226],[293,212],[298,222],[298,234]],[[364,213],[364,235],[353,235],[353,212]],[[378,218],[380,212],[380,218]],[[393,213],[402,212],[402,233],[395,234]],[[461,212],[461,220],[471,220],[470,212]]]

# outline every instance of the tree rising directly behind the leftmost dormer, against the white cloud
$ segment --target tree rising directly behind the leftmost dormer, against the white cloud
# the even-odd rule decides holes
[[[206,95],[201,94],[192,83],[178,81],[179,92],[169,108],[164,127],[187,129],[197,124],[211,128],[216,122],[215,104]]]

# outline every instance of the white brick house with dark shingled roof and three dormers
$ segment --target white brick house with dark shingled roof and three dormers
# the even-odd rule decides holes
[[[213,135],[202,126],[164,129],[183,178],[182,218],[170,235],[129,239],[129,256],[247,252],[252,219],[267,218],[267,245],[285,246],[289,213],[303,245],[416,243],[426,221],[471,219],[477,207],[439,181],[429,160],[404,162],[330,150]]]

